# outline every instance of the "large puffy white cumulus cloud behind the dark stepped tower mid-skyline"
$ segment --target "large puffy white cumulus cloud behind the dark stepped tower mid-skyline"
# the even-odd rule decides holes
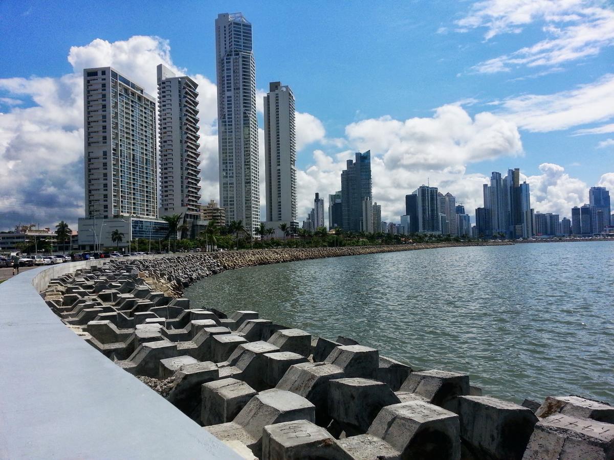
[[[313,166],[298,172],[300,220],[313,207],[313,193],[327,198],[340,190],[340,174],[354,151],[371,150],[373,199],[382,205],[383,219],[398,222],[405,213],[405,195],[430,182],[451,192],[467,211],[481,206],[486,177],[466,174],[467,163],[522,153],[514,123],[492,113],[472,119],[459,105],[445,105],[433,117],[400,121],[382,117],[346,126],[351,150],[313,152]]]

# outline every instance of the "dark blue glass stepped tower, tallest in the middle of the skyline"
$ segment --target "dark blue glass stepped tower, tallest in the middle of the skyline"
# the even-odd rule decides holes
[[[360,231],[362,201],[371,199],[371,151],[356,153],[356,161],[347,162],[341,172],[341,226],[346,231]]]

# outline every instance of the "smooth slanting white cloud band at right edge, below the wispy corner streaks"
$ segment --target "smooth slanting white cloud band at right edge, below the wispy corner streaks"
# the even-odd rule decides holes
[[[553,94],[524,94],[497,101],[508,120],[532,132],[556,131],[606,121],[614,117],[614,74],[573,90]],[[603,129],[603,128],[602,128]],[[583,133],[596,132],[583,130]],[[600,131],[607,132],[607,131]]]

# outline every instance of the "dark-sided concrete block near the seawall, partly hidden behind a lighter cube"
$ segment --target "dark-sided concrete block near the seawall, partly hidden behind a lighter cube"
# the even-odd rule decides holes
[[[175,373],[173,388],[166,399],[192,420],[198,421],[201,409],[201,385],[218,378],[219,370],[214,362],[205,361],[182,366],[181,370]]]

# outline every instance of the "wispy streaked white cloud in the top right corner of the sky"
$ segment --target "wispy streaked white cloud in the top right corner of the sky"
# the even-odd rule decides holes
[[[476,65],[483,73],[509,71],[519,66],[559,66],[595,56],[614,44],[614,10],[597,0],[487,0],[473,4],[457,21],[457,31],[486,28],[484,39],[520,33],[524,26],[543,21],[546,38],[516,52]]]

